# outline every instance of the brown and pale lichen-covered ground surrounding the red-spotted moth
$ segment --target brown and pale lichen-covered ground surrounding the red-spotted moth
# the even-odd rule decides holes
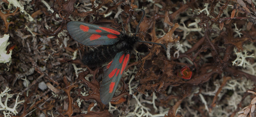
[[[0,1],[0,117],[254,116],[256,1]],[[113,101],[100,101],[103,68],[79,60],[69,21],[115,28],[135,45]],[[121,20],[122,19],[122,20]],[[118,104],[117,104],[118,103]]]

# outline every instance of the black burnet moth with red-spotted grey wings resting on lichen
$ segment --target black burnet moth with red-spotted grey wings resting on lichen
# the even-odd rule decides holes
[[[145,11],[143,9],[141,11],[143,16],[140,19],[139,25],[145,16]],[[136,42],[161,45],[166,50],[163,44],[139,40],[139,37],[136,37],[139,25],[136,28],[135,35],[131,37],[116,29],[95,24],[79,21],[71,21],[67,24],[69,34],[80,44],[86,46],[100,45],[94,51],[85,53],[82,62],[84,65],[92,68],[108,63],[105,66],[100,85],[100,99],[105,105],[110,102],[115,94],[124,69],[129,62],[130,52],[133,50]]]

